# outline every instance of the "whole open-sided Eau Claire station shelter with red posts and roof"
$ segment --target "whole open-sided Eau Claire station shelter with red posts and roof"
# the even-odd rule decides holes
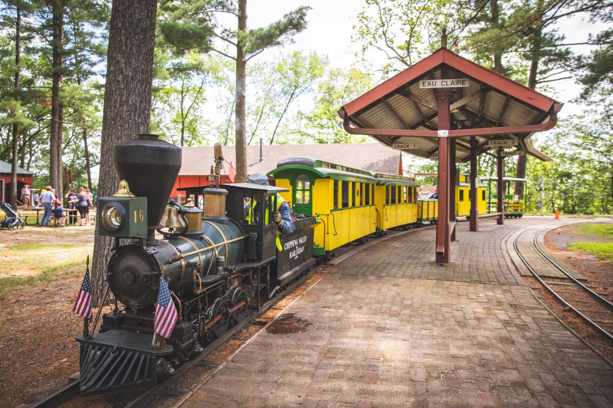
[[[497,158],[497,196],[503,197],[505,157],[551,160],[530,138],[555,126],[562,103],[447,50],[445,34],[442,44],[343,105],[338,115],[348,133],[438,160],[435,260],[448,263],[455,240],[455,163],[470,161],[470,231],[478,231],[477,156]],[[496,215],[503,224],[503,200]]]

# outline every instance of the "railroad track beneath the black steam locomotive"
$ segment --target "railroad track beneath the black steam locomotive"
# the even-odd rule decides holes
[[[198,355],[195,358],[192,358],[192,360],[189,360],[188,362],[183,363],[183,365],[175,369],[175,374],[172,377],[164,380],[163,382],[159,382],[158,384],[154,385],[151,388],[148,388],[142,391],[141,393],[139,393],[139,395],[136,398],[132,399],[131,401],[126,401],[126,405],[124,407],[125,408],[146,407],[147,404],[153,401],[153,399],[156,398],[158,395],[161,395],[162,393],[171,390],[174,387],[174,385],[177,383],[177,381],[181,379],[181,376],[183,376],[183,374],[187,373],[190,369],[199,365],[200,362],[203,362],[206,357],[213,354],[213,352],[219,349],[219,347],[223,346],[230,339],[234,338],[234,336],[237,333],[240,333],[240,331],[243,328],[247,327],[248,325],[253,325],[253,324],[257,325],[258,323],[254,321],[259,319],[259,317],[262,317],[262,315],[264,315],[268,310],[270,310],[270,308],[272,308],[272,306],[275,305],[275,303],[279,302],[281,299],[284,299],[285,297],[287,297],[287,295],[291,294],[291,292],[294,291],[294,289],[299,287],[301,284],[305,283],[305,281],[308,280],[308,277],[310,275],[312,275],[314,272],[321,269],[321,267],[323,267],[324,265],[325,264],[318,265],[314,267],[313,269],[311,269],[310,271],[303,273],[303,275],[300,275],[300,277],[297,280],[295,280],[293,283],[291,283],[289,286],[287,286],[282,291],[278,292],[272,299],[263,303],[260,306],[259,310],[253,311],[253,313],[246,316],[242,322],[234,325],[233,327],[230,327],[225,335],[223,335],[222,337],[208,344],[205,347],[204,352],[202,354]],[[139,390],[138,388],[134,389],[134,391],[138,391],[138,390]],[[115,394],[126,393],[129,391],[130,390],[115,391],[115,392],[108,393],[108,395],[113,397],[113,395]],[[29,405],[29,406],[26,404],[21,404],[17,408],[26,408],[26,407],[28,408],[53,408],[53,407],[57,407],[74,398],[79,398],[78,392],[79,392],[79,382],[75,381],[69,385],[66,385],[66,387],[64,388],[61,388],[58,391],[55,391],[55,393],[51,394],[45,399],[40,400],[39,402],[36,402],[35,404]],[[84,397],[84,398],[87,398],[87,397]]]

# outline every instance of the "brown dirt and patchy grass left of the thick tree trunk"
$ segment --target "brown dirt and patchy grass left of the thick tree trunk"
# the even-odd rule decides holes
[[[91,226],[0,231],[0,407],[35,402],[78,371],[72,305],[92,248]]]

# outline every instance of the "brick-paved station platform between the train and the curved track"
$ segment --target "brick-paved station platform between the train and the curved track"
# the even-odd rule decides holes
[[[433,262],[433,230],[355,254],[183,407],[613,406],[613,368],[505,253],[509,236],[542,222],[459,223],[447,266]]]

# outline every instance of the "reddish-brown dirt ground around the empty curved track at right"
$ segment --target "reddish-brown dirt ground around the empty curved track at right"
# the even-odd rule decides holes
[[[612,301],[613,262],[599,259],[597,256],[589,253],[574,251],[568,248],[569,243],[572,242],[609,242],[611,239],[608,237],[579,234],[578,230],[582,225],[582,223],[570,224],[547,232],[545,236],[545,244],[550,253],[587,278],[587,281],[584,281],[584,284],[590,286],[590,289],[598,292],[598,294],[603,296],[605,299]],[[560,317],[560,319],[562,319],[563,322],[569,325],[569,327],[573,328],[573,330],[580,336],[587,339],[605,357],[609,358],[609,360],[613,360],[613,347],[611,346],[610,341],[604,338],[604,336],[600,333],[596,332],[594,328],[590,327],[590,325],[584,322],[580,317],[576,316],[572,310],[567,309],[560,302],[558,302],[558,300],[554,299],[549,292],[547,292],[545,289],[541,289],[541,285],[535,278],[525,279],[527,280],[528,284],[530,284],[530,287],[533,288],[535,293],[542,297],[541,300],[543,300],[546,305],[552,311],[554,311],[554,313]],[[555,289],[558,290],[560,287],[556,286]],[[593,304],[596,305],[593,306],[594,308],[603,308],[603,306],[600,306],[600,303],[595,302],[587,293],[573,293],[572,297],[573,299],[580,299],[584,302],[594,302]],[[592,307],[585,306],[587,304],[588,303],[584,303],[583,308],[587,309],[588,307]],[[603,322],[598,322],[601,325],[606,324],[606,321],[611,320],[611,313],[601,313],[596,314],[595,316],[592,316],[591,313],[584,313],[589,314],[589,317],[592,319],[604,319]],[[609,327],[606,328],[607,330],[609,329]]]

